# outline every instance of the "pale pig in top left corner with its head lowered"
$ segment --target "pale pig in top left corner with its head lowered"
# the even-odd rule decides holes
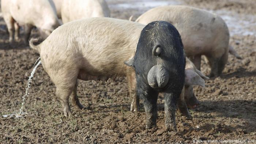
[[[45,39],[61,25],[55,7],[48,0],[1,0],[1,9],[11,43],[14,42],[14,39],[15,41],[19,39],[19,26],[24,27],[25,37],[23,40],[28,43],[34,26],[39,30],[41,37]]]

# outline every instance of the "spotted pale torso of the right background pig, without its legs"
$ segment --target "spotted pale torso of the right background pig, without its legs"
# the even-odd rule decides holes
[[[229,39],[229,30],[222,18],[197,8],[161,6],[145,12],[136,22],[147,24],[154,20],[170,22],[177,28],[187,56],[216,51],[212,48]]]

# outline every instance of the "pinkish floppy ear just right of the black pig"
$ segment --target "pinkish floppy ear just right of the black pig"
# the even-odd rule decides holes
[[[195,71],[193,70],[185,70],[185,84],[186,85],[199,85],[205,87],[204,79],[200,77]]]

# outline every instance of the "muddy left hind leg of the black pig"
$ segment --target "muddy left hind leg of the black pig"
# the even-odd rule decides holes
[[[138,84],[137,84],[138,87]],[[158,92],[150,87],[138,87],[138,95],[144,100],[144,109],[147,115],[146,128],[157,125],[157,97]]]

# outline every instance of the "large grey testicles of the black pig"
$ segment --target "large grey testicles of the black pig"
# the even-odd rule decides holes
[[[154,65],[148,72],[147,80],[152,88],[163,88],[169,81],[169,73],[163,65]]]

